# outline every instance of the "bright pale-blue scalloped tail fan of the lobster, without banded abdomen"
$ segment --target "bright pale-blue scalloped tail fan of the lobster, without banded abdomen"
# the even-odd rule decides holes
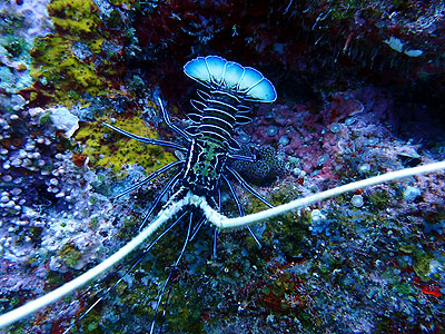
[[[184,66],[184,72],[206,87],[231,91],[245,100],[273,102],[277,99],[274,85],[260,71],[219,56],[197,57]]]

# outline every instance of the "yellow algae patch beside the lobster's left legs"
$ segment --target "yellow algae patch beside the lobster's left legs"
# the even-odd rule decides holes
[[[102,125],[108,121],[108,118],[101,117],[82,126],[76,134],[76,139],[82,144],[82,153],[93,167],[110,168],[118,177],[125,177],[121,170],[126,165],[140,165],[150,174],[177,160],[159,145],[137,141]],[[140,115],[120,118],[113,126],[146,138],[158,138],[157,131],[148,127]]]

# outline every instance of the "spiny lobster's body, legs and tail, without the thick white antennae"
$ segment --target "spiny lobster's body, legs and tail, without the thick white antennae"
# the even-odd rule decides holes
[[[245,189],[250,191],[264,204],[273,207],[273,205],[250,187],[243,177],[229,166],[228,163],[236,159],[247,161],[255,160],[255,157],[237,155],[240,146],[233,138],[233,135],[237,126],[251,121],[251,118],[247,116],[251,109],[245,105],[246,101],[273,102],[276,100],[277,94],[274,85],[258,70],[251,67],[243,67],[234,61],[227,61],[218,56],[198,57],[190,60],[185,65],[184,71],[188,77],[204,85],[208,90],[207,92],[198,90],[197,92],[200,100],[191,100],[194,112],[187,115],[192,122],[191,126],[181,129],[174,125],[160,100],[159,102],[164,120],[169,128],[182,138],[185,146],[159,139],[144,138],[112,125],[105,124],[110,129],[132,139],[150,145],[175,148],[186,153],[185,159],[164,166],[144,180],[118,195],[118,197],[123,196],[170,169],[179,169],[179,173],[175,174],[175,176],[168,180],[152,202],[151,207],[142,219],[140,228],[146,225],[151,214],[158,207],[161,198],[168,193],[171,193],[172,195],[169,197],[165,207],[168,207],[170,204],[177,203],[191,194],[204,197],[215,210],[220,212],[220,186],[222,181],[227,185],[234,200],[236,202],[239,216],[244,216],[243,206],[235,193],[230,178],[240,183]],[[184,213],[180,218],[186,214],[187,213]],[[194,215],[198,216],[196,217],[198,219],[195,219]],[[199,214],[196,210],[189,212],[187,237],[182,250],[174,265],[174,269],[178,265],[187,243],[195,237],[206,220],[206,216],[201,213]],[[191,229],[191,225],[195,223],[196,225]],[[176,222],[174,224],[176,224]],[[248,230],[256,243],[260,246],[253,229],[248,227]],[[216,256],[217,233],[218,229],[215,228],[214,256]],[[147,248],[151,248],[151,245]],[[159,294],[155,317],[158,307],[161,304],[162,295],[171,277],[172,271]],[[155,318],[150,333],[154,331],[154,325]]]

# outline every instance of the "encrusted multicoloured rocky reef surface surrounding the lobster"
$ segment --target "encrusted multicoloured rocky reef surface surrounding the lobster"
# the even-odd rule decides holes
[[[234,166],[271,204],[445,158],[443,1],[8,0],[0,4],[0,313],[131,239],[168,179],[116,196],[184,155],[197,88],[182,66],[220,55],[260,70],[273,105]],[[247,213],[264,204],[240,186]],[[224,191],[228,190],[222,188]],[[230,196],[224,213],[237,215]],[[141,333],[180,252],[179,224],[72,328]],[[174,275],[166,333],[442,333],[444,173],[362,189],[254,226],[212,228]],[[138,258],[135,254],[134,258]],[[130,267],[2,333],[62,333]],[[161,323],[159,316],[158,325]]]

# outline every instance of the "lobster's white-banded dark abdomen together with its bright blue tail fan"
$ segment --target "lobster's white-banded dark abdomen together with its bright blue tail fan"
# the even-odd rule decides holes
[[[248,124],[251,110],[244,101],[271,102],[277,98],[271,82],[260,71],[227,61],[219,56],[198,57],[184,66],[185,73],[209,88],[198,90],[201,98],[191,100],[195,111],[188,115],[190,136],[214,140],[231,150],[239,150],[233,138],[235,127]]]

